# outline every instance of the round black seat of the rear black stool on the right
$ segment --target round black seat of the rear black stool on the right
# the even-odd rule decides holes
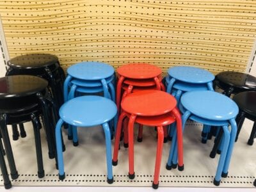
[[[223,89],[228,97],[232,93],[256,91],[256,77],[241,72],[220,72],[214,83]]]

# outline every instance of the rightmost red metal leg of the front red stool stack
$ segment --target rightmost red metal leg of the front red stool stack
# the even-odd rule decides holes
[[[177,124],[177,144],[178,144],[178,169],[181,171],[184,169],[184,164],[183,164],[183,141],[182,141],[182,122],[181,122],[181,116],[179,109],[174,108],[172,110],[172,114],[176,118],[176,124]]]

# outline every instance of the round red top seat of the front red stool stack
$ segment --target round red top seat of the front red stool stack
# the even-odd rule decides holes
[[[140,116],[163,115],[172,111],[177,104],[176,99],[161,91],[141,91],[131,93],[122,100],[124,111]]]

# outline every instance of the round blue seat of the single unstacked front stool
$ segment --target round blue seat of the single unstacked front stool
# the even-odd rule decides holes
[[[90,127],[108,122],[116,115],[116,111],[113,101],[86,95],[65,102],[60,108],[60,117],[70,125]]]

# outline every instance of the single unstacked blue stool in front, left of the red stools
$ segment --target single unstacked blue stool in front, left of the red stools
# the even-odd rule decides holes
[[[60,120],[56,125],[56,147],[58,156],[59,179],[65,179],[61,126],[63,123],[76,127],[92,127],[102,125],[106,139],[106,157],[108,168],[108,183],[113,183],[112,161],[111,161],[111,134],[108,122],[116,115],[117,109],[113,101],[100,96],[87,95],[68,100],[60,108]],[[77,129],[74,131],[73,141],[77,141]]]

